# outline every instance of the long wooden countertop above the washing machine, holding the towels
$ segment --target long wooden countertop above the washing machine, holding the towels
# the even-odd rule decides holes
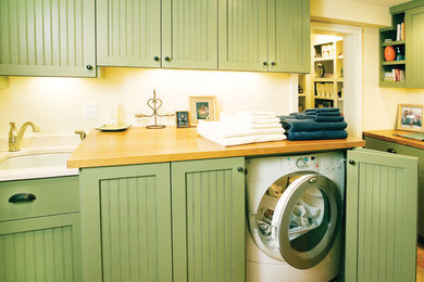
[[[198,136],[196,128],[147,129],[132,127],[121,132],[90,131],[67,159],[67,167],[82,168],[329,151],[364,145],[363,140],[348,138],[275,141],[225,148]]]

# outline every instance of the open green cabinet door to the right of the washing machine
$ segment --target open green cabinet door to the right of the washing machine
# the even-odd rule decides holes
[[[417,159],[366,149],[347,157],[346,281],[415,281]]]

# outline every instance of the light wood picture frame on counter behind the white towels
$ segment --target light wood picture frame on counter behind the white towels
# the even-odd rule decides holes
[[[216,120],[216,97],[214,95],[189,95],[190,125],[196,126],[199,120]]]

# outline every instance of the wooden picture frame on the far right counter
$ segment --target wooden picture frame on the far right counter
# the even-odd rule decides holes
[[[399,104],[396,129],[424,132],[423,114],[424,105]]]

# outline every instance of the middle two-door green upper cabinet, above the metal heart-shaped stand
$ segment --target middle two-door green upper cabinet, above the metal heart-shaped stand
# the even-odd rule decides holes
[[[98,64],[217,68],[217,0],[98,0]]]

